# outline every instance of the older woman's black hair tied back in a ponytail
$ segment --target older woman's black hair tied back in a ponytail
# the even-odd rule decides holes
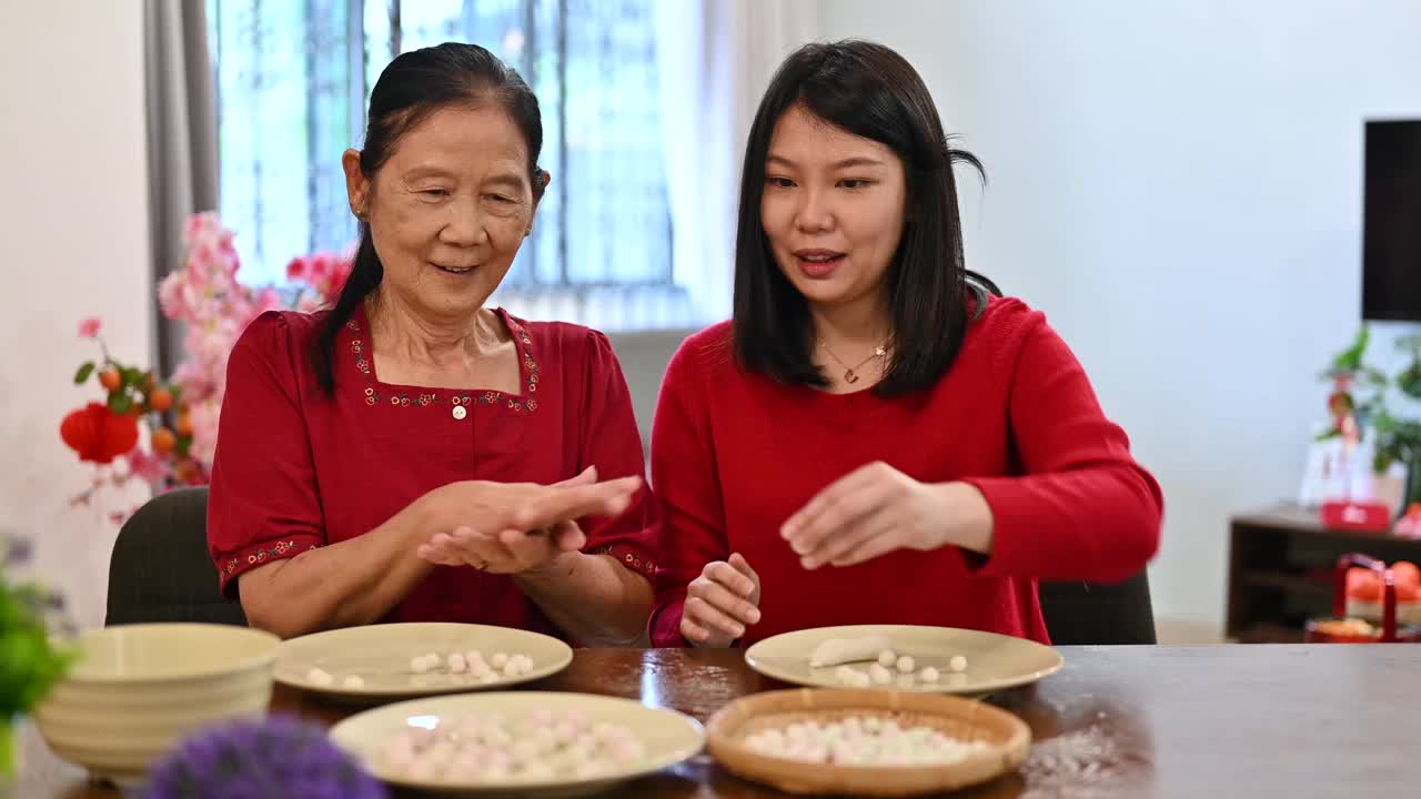
[[[537,97],[522,75],[477,44],[445,43],[412,50],[402,53],[385,67],[369,95],[360,171],[367,181],[374,182],[375,173],[389,161],[401,136],[435,111],[489,101],[500,104],[523,134],[529,149],[533,196],[541,198],[547,181],[537,166],[539,154],[543,151],[543,114]],[[325,394],[335,391],[333,358],[341,326],[384,277],[385,267],[375,254],[369,222],[361,219],[360,246],[355,250],[351,274],[311,350],[315,380]]]

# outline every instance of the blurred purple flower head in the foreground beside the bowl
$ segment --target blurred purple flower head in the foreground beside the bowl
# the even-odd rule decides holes
[[[385,786],[320,726],[239,721],[185,739],[149,773],[146,799],[387,799]]]

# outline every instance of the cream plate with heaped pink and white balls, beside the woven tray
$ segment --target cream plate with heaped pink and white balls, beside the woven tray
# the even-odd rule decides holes
[[[499,714],[507,719],[536,711],[580,711],[588,724],[615,724],[630,728],[645,746],[644,755],[607,773],[590,779],[509,779],[506,782],[416,781],[392,769],[384,756],[394,736],[411,726],[436,728],[442,721],[458,722],[470,715]],[[593,694],[543,691],[462,694],[429,697],[385,705],[347,718],[330,731],[331,741],[358,758],[378,779],[391,785],[446,796],[583,796],[649,775],[701,752],[705,729],[696,719],[675,711],[648,708],[632,699]]]

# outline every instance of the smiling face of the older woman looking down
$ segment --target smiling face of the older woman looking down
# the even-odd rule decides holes
[[[365,213],[385,267],[382,290],[432,317],[483,306],[537,209],[527,144],[496,104],[436,111],[399,139],[374,181],[354,152],[345,172],[351,208]]]

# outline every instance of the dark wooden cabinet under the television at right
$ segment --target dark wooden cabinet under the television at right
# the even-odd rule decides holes
[[[1225,634],[1246,644],[1302,641],[1309,617],[1330,614],[1340,554],[1421,563],[1421,540],[1330,530],[1297,506],[1235,516],[1229,527]]]

